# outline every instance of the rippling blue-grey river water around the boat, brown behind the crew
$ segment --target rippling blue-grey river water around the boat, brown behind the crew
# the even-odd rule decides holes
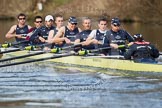
[[[0,21],[1,43],[14,23]],[[162,50],[162,26],[134,23],[123,24],[123,28],[131,34],[142,33]],[[149,77],[121,76],[53,66],[44,61],[0,68],[0,108],[162,107],[160,73]]]

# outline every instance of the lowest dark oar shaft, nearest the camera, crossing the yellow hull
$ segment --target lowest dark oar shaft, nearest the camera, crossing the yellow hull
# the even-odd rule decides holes
[[[20,64],[26,64],[26,63],[44,61],[44,60],[49,60],[49,59],[56,59],[56,58],[67,57],[67,56],[71,56],[71,55],[75,55],[75,53],[70,52],[70,53],[58,54],[58,55],[53,55],[53,56],[50,56],[50,57],[45,57],[45,58],[40,58],[40,59],[34,59],[34,60],[32,59],[32,60],[27,60],[27,61],[22,61],[22,62],[2,64],[2,65],[0,65],[0,67],[7,67],[7,66],[13,66],[13,65],[20,65]]]

